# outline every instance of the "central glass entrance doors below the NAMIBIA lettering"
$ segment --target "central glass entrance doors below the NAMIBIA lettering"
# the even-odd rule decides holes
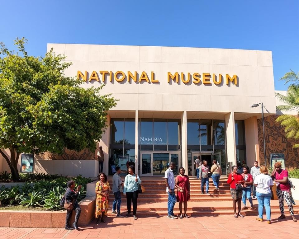
[[[140,152],[140,175],[163,176],[170,162],[175,163],[174,174],[178,174],[180,152]]]

